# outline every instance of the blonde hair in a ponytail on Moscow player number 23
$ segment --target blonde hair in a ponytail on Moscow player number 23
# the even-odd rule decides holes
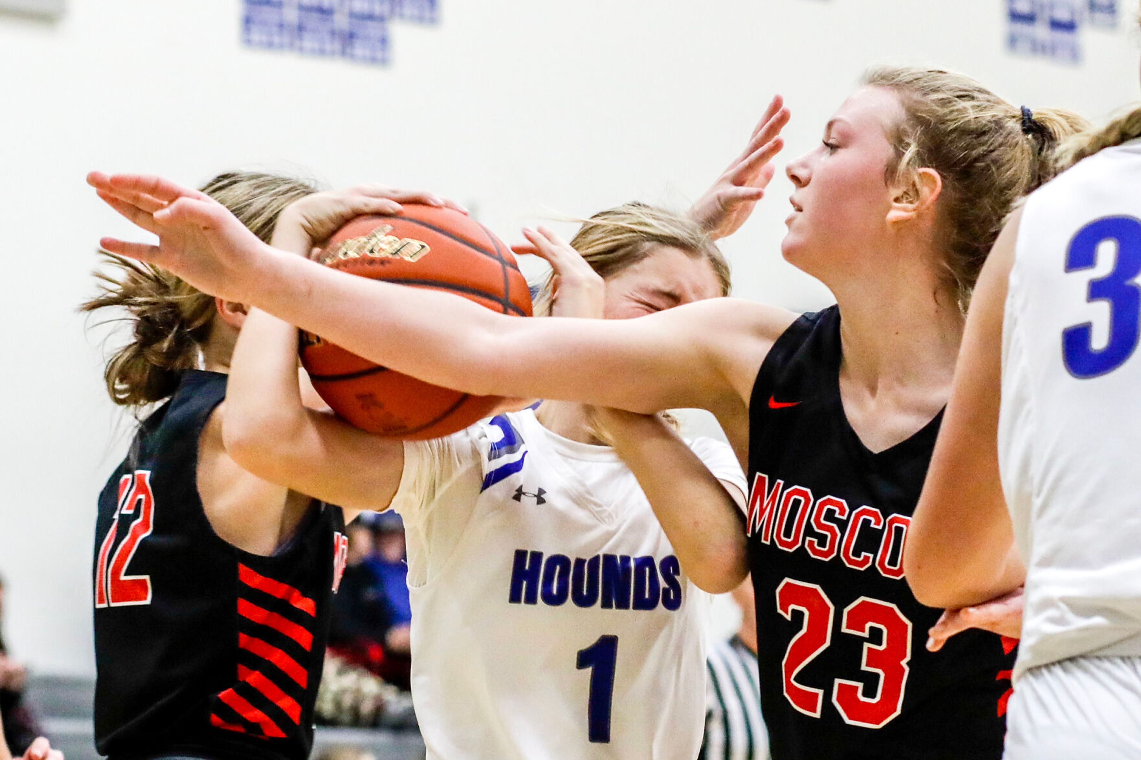
[[[906,114],[889,136],[896,161],[888,180],[921,168],[942,179],[944,266],[965,309],[1006,217],[1057,173],[1054,148],[1087,122],[1066,111],[1011,105],[973,79],[938,68],[873,68],[863,83],[893,91]]]

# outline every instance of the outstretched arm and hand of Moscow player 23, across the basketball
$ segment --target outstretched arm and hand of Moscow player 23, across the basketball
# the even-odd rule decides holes
[[[160,237],[157,246],[105,238],[107,250],[258,306],[378,364],[472,394],[718,413],[727,398],[747,399],[747,375],[792,321],[782,309],[734,308],[726,299],[639,320],[504,316],[456,296],[365,280],[277,251],[220,204],[165,180],[92,175],[91,181],[100,197]]]

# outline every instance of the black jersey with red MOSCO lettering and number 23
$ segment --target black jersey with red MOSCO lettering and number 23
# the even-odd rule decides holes
[[[925,648],[941,611],[904,580],[903,544],[941,412],[872,453],[840,399],[840,312],[776,341],[750,406],[748,542],[761,706],[774,760],[1002,757],[1014,642]]]

